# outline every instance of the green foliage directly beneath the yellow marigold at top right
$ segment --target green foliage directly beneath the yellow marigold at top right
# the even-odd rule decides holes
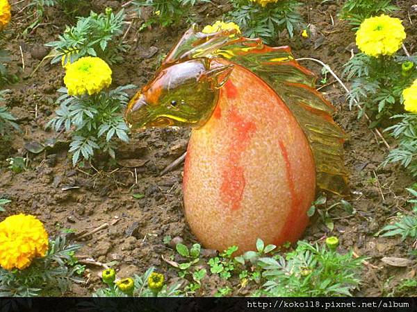
[[[415,55],[409,58],[400,55],[375,58],[357,53],[344,65],[343,76],[352,83],[347,96],[349,105],[361,105],[358,119],[367,113],[373,120],[370,128],[404,112],[402,91],[417,78],[415,65],[414,69],[405,73],[402,69],[404,62],[417,64],[417,58]]]

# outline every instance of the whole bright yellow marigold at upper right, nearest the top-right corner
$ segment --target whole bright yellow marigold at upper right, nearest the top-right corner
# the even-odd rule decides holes
[[[356,43],[363,53],[378,57],[393,55],[400,49],[406,34],[401,19],[381,15],[365,19],[356,35]]]

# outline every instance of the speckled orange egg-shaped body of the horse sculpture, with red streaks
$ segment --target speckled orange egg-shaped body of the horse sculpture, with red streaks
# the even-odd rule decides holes
[[[224,64],[229,62],[222,60]],[[235,64],[213,116],[193,130],[183,176],[186,218],[206,248],[297,241],[316,193],[313,155],[281,98]]]

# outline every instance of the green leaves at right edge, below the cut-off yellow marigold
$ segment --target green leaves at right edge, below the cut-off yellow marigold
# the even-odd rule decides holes
[[[398,147],[389,151],[382,166],[390,162],[400,162],[408,168],[414,177],[417,177],[417,115],[400,114],[393,119],[401,119],[385,131],[391,131],[391,135],[398,139]]]

